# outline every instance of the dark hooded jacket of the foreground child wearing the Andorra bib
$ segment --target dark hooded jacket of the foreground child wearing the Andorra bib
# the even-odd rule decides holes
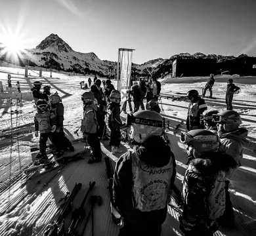
[[[160,180],[163,175],[167,178],[166,183]],[[150,176],[150,180],[152,177],[155,180],[141,186],[141,183],[147,181],[146,176]],[[152,136],[148,143],[135,146],[133,151],[121,155],[116,163],[113,185],[114,202],[121,216],[140,228],[148,227],[150,224],[163,224],[167,214],[167,203],[163,201],[164,206],[160,205],[158,208],[154,202],[158,203],[155,198],[161,198],[162,191],[167,191],[169,199],[175,176],[175,157],[160,136]],[[154,205],[154,210],[140,210],[143,208],[144,199],[145,205],[148,205],[148,201]]]

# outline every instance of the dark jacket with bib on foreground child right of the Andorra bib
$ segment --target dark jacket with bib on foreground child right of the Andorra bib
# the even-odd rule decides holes
[[[208,235],[219,228],[226,207],[225,177],[236,162],[226,153],[206,153],[192,159],[182,187],[180,229],[187,235]]]

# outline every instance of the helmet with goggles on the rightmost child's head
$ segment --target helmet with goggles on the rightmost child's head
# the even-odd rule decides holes
[[[236,111],[221,111],[213,115],[213,121],[223,123],[223,128],[227,132],[236,130],[242,124],[241,117]]]

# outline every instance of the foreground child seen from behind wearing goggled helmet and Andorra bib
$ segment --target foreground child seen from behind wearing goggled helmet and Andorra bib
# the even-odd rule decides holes
[[[137,111],[128,117],[136,146],[119,157],[114,172],[114,203],[123,217],[119,236],[160,236],[175,182],[175,157],[161,137],[160,114]]]

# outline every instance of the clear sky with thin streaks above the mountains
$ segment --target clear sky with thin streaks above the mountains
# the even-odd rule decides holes
[[[0,0],[0,42],[16,32],[32,49],[56,33],[101,60],[135,49],[137,64],[181,52],[256,56],[255,10],[256,0]]]

